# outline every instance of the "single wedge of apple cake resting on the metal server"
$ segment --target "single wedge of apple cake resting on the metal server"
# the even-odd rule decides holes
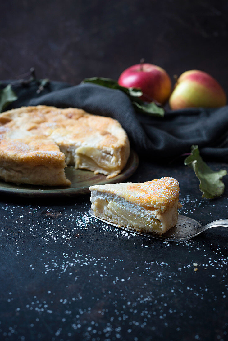
[[[144,183],[95,185],[91,208],[96,217],[140,233],[162,235],[177,223],[179,183],[161,178]]]

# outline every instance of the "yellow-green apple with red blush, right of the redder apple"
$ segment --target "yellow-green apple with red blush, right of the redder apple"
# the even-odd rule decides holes
[[[171,109],[191,107],[217,108],[226,105],[226,94],[208,73],[199,70],[184,72],[170,96]]]

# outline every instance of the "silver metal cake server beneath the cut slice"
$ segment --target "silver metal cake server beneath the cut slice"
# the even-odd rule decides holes
[[[205,226],[202,226],[197,220],[178,215],[178,220],[177,220],[176,225],[172,227],[169,231],[161,235],[160,237],[159,235],[156,235],[156,234],[139,233],[137,231],[130,230],[129,228],[118,226],[117,224],[114,224],[114,223],[110,223],[109,221],[96,217],[92,209],[89,210],[89,213],[94,218],[106,224],[121,228],[124,231],[129,231],[129,232],[139,234],[140,236],[156,238],[159,240],[166,240],[166,241],[176,241],[176,242],[185,241],[185,240],[189,240],[193,237],[198,236],[200,233],[202,233],[203,231],[211,227],[228,227],[228,219],[215,220],[209,224],[206,224]]]

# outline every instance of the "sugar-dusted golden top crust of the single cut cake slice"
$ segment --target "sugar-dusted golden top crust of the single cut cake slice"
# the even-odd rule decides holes
[[[134,204],[162,213],[173,207],[179,196],[179,183],[174,178],[161,178],[144,183],[117,183],[91,186],[90,190],[118,195]]]

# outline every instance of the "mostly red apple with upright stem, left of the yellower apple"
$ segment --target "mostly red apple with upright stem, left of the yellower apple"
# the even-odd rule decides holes
[[[126,88],[140,88],[143,101],[156,101],[164,104],[170,96],[171,80],[169,75],[157,65],[136,64],[123,71],[118,83]]]

